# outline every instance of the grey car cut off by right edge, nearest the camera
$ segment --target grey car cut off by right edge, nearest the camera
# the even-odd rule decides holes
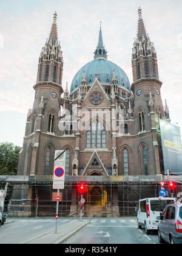
[[[158,223],[158,240],[160,243],[182,244],[182,204],[174,202],[167,205]]]

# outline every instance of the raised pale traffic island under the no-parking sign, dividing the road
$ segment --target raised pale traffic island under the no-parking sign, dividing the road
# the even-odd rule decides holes
[[[38,236],[33,240],[26,241],[24,244],[61,244],[67,238],[76,233],[79,229],[89,224],[90,221],[74,220],[59,227],[57,233],[55,230],[45,233],[44,235]]]

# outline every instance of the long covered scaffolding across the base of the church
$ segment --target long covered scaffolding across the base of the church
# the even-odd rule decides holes
[[[80,183],[87,187],[83,217],[120,217],[135,216],[139,199],[158,197],[162,180],[177,183],[174,197],[182,191],[181,176],[66,176],[59,217],[79,217]],[[0,189],[7,190],[8,216],[55,216],[52,185],[53,176],[0,176]],[[167,186],[166,190],[171,196]]]

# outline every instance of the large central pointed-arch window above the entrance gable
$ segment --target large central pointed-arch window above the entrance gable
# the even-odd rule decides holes
[[[98,121],[93,121],[87,131],[87,148],[106,148],[106,129]]]

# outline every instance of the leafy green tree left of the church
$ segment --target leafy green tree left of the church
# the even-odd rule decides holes
[[[13,143],[0,143],[0,175],[16,175],[21,147]]]

